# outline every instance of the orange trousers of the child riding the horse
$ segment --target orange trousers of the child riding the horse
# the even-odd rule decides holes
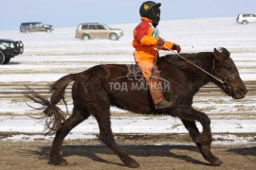
[[[154,51],[152,54],[144,51],[134,52],[135,60],[147,81],[154,104],[158,104],[164,99],[163,93],[157,89],[158,84],[161,83],[159,80],[159,71],[155,65],[157,55],[157,51]]]

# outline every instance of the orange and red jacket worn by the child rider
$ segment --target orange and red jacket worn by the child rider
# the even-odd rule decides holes
[[[166,50],[164,46],[173,49],[174,42],[165,42],[164,46],[157,46],[157,39],[161,39],[158,35],[158,30],[152,25],[152,20],[141,17],[141,23],[134,30],[133,46],[136,51],[143,51],[152,57],[156,54],[157,49]]]

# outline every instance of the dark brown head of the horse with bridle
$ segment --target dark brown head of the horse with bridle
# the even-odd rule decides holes
[[[247,88],[239,76],[236,65],[230,59],[230,53],[226,48],[220,48],[213,51],[215,59],[213,59],[212,75],[221,79],[223,83],[216,84],[229,96],[234,99],[244,98]]]

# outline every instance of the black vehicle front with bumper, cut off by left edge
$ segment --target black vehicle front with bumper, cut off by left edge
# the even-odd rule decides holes
[[[11,58],[22,54],[24,45],[21,41],[0,39],[0,64],[7,64]]]

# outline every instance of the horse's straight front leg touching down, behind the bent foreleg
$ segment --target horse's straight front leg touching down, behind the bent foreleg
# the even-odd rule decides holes
[[[186,121],[184,119],[181,119],[182,123],[184,126],[189,130],[190,135],[192,137],[192,141],[197,145],[199,150],[201,151],[203,157],[207,160],[210,161],[212,165],[220,165],[222,161],[220,161],[217,157],[215,157],[211,152],[210,152],[210,144],[200,144],[196,142],[197,137],[199,136],[199,130],[195,125],[194,121]]]

